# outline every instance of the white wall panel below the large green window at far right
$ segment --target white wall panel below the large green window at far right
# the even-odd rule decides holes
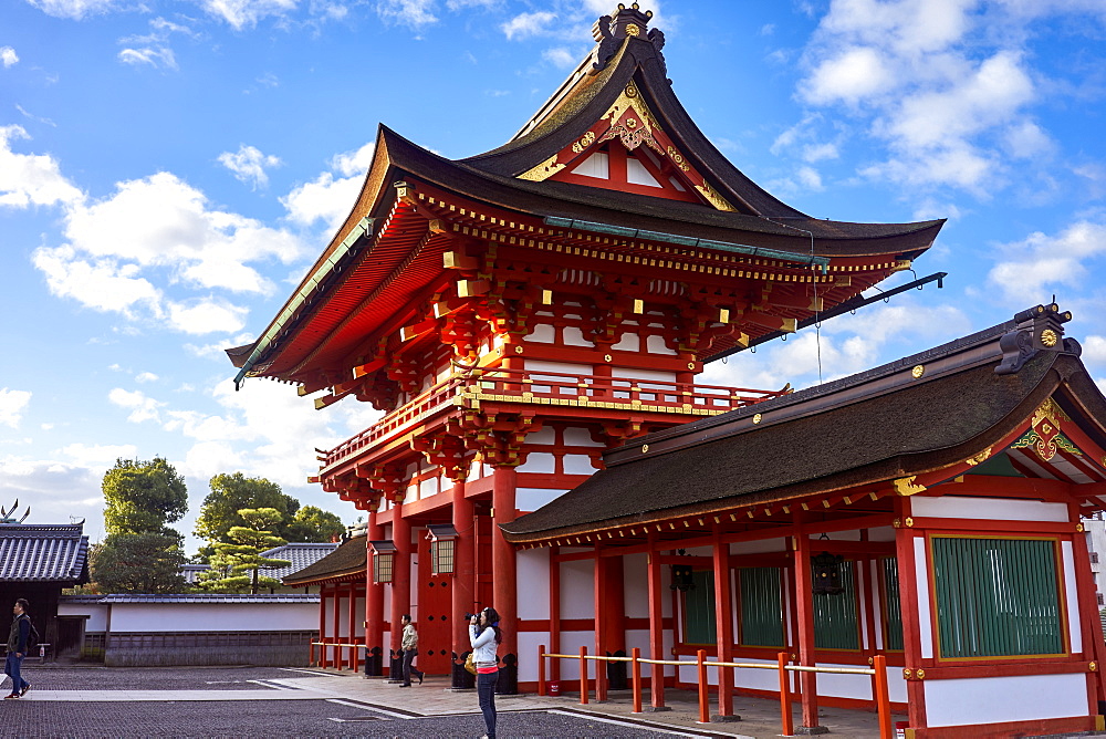
[[[926,720],[931,727],[1088,715],[1083,673],[926,680]]]

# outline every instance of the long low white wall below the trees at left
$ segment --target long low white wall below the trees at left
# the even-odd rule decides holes
[[[330,601],[327,601],[330,603]],[[334,624],[327,610],[327,633]],[[252,632],[319,628],[317,603],[114,603],[113,632]]]

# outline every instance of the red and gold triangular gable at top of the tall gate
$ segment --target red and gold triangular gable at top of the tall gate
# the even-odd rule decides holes
[[[583,136],[519,178],[552,179],[737,210],[677,148],[633,81]]]

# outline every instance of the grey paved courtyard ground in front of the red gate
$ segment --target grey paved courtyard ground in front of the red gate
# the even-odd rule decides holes
[[[273,667],[105,668],[27,666],[32,688],[0,706],[15,737],[479,737],[474,693],[444,677],[409,689],[353,673]],[[2,688],[8,688],[6,681]],[[7,690],[4,690],[7,693]],[[578,695],[498,699],[500,737],[750,737],[780,733],[779,702],[741,697],[742,720],[697,724],[692,694],[674,710],[632,714],[628,693],[578,706]],[[797,714],[797,710],[796,710]],[[833,733],[878,737],[875,716],[825,709]],[[797,716],[796,716],[797,718]]]

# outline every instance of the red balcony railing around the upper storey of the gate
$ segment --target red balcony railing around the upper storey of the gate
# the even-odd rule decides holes
[[[714,416],[789,392],[786,388],[757,391],[544,371],[478,370],[471,374],[455,374],[437,383],[357,436],[342,443],[326,454],[323,469],[365,447],[401,434],[449,407],[479,408],[483,403],[498,402]]]

